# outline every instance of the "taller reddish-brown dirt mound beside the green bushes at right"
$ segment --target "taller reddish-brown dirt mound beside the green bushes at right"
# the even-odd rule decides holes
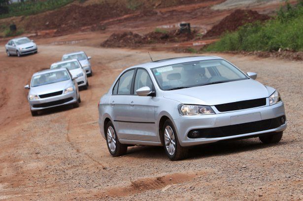
[[[236,9],[230,15],[223,18],[219,24],[213,26],[203,37],[219,36],[227,31],[236,31],[238,27],[244,24],[256,21],[264,22],[269,19],[268,15],[259,14],[254,10]]]

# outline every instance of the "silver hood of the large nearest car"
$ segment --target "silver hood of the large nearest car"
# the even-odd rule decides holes
[[[165,91],[164,97],[184,104],[216,105],[269,97],[269,91],[253,79]]]

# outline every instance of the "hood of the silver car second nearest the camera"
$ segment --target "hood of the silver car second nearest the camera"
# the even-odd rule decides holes
[[[41,95],[41,94],[49,94],[53,92],[63,91],[67,87],[72,85],[70,80],[56,82],[52,84],[41,85],[37,87],[31,87],[30,94],[33,95]]]

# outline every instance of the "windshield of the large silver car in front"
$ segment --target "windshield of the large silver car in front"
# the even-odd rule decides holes
[[[152,69],[152,72],[162,90],[249,79],[244,73],[223,59],[156,67]]]

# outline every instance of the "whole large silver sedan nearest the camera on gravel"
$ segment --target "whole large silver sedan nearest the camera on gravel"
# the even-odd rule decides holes
[[[286,129],[283,101],[256,77],[212,56],[129,67],[99,102],[101,135],[113,156],[129,145],[158,145],[170,160],[220,140],[278,142]]]

